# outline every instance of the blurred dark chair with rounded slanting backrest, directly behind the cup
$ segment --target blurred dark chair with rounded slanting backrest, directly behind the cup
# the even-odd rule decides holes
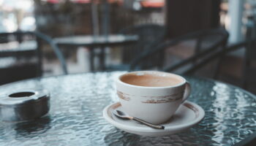
[[[158,69],[165,72],[176,72],[183,74],[187,69],[195,66],[202,58],[206,58],[208,55],[223,50],[227,43],[228,33],[225,29],[211,29],[196,31],[189,34],[185,34],[181,37],[166,40],[157,47],[148,50],[141,54],[138,58],[132,61],[130,70],[143,70],[143,69]],[[151,59],[152,56],[158,54],[165,54],[159,60]],[[170,57],[170,55],[173,55]],[[181,55],[179,61],[164,61],[165,58],[175,58],[176,55]],[[219,56],[219,60],[222,56]],[[214,77],[217,75],[219,68],[219,62],[215,69],[211,69],[214,72]],[[187,65],[187,66],[185,66]]]

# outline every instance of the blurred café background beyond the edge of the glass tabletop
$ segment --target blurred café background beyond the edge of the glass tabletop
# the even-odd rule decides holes
[[[256,93],[254,0],[0,0],[0,85],[157,69]]]

